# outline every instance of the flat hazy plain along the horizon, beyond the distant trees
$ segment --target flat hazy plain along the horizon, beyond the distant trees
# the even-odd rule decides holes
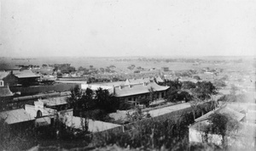
[[[90,65],[93,65],[95,68],[105,68],[111,64],[115,65],[119,70],[129,71],[127,70],[127,67],[131,64],[135,64],[137,66],[141,66],[144,69],[150,69],[150,68],[156,68],[160,69],[161,67],[169,67],[169,70],[191,70],[191,69],[201,69],[204,67],[209,68],[223,68],[223,69],[230,69],[230,68],[236,68],[242,66],[247,66],[248,64],[253,63],[253,59],[249,59],[247,64],[199,64],[199,65],[193,65],[192,63],[166,63],[166,62],[142,62],[138,60],[131,60],[129,62],[124,61],[114,61],[114,59],[119,58],[38,58],[38,59],[10,59],[10,58],[0,58],[0,69],[1,66],[4,65],[10,65],[15,66],[16,64],[33,64],[33,65],[39,65],[42,64],[71,64],[72,66],[79,68],[79,66],[83,66],[85,68],[89,68]],[[123,58],[124,59],[124,58]],[[128,58],[129,59],[129,58]],[[134,59],[134,58],[132,58]],[[198,59],[206,59],[206,60],[231,60],[231,59],[238,59],[236,58],[223,58],[223,57],[204,57],[204,58],[198,58]],[[244,59],[248,60],[248,59]],[[244,61],[245,62],[245,61]]]

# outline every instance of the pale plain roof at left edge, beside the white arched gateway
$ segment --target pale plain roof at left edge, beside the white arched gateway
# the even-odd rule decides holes
[[[0,118],[4,119],[7,124],[15,124],[28,120],[35,120],[25,109],[14,109],[0,113]]]

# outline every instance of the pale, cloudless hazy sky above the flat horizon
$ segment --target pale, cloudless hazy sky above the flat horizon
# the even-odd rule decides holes
[[[256,52],[254,0],[0,2],[0,57]]]

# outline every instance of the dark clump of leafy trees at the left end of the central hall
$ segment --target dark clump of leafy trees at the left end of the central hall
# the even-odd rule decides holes
[[[67,102],[74,109],[74,115],[94,120],[109,120],[109,113],[116,112],[120,105],[123,105],[123,108],[125,105],[120,103],[119,98],[102,88],[96,92],[87,88],[85,92],[82,92],[79,87],[74,87]]]

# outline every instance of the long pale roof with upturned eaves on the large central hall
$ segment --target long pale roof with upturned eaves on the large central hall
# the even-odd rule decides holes
[[[112,92],[116,97],[126,97],[131,95],[148,93],[151,87],[153,88],[154,92],[165,91],[169,88],[160,86],[155,82],[148,82],[113,87],[112,89],[110,89],[110,92]]]

